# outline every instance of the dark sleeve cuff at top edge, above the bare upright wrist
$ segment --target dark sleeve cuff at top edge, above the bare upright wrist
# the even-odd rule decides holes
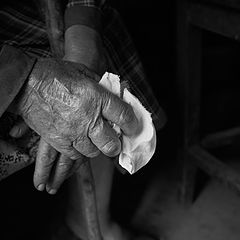
[[[105,0],[69,0],[65,11],[65,30],[72,25],[85,25],[101,31],[101,8]]]

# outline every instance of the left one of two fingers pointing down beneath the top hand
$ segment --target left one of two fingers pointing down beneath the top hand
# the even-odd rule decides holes
[[[45,189],[57,155],[58,152],[41,138],[33,176],[34,186],[39,191]]]

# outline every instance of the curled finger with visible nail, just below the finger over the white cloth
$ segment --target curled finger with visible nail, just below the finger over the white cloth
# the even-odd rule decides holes
[[[93,144],[109,157],[116,156],[121,151],[121,142],[116,132],[101,118],[89,129],[89,137]]]

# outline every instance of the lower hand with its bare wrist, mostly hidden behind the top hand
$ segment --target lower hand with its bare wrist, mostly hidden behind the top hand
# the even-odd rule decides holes
[[[99,75],[105,72],[106,58],[98,32],[82,25],[74,25],[65,32],[65,39],[65,60],[83,63]],[[89,74],[91,75],[90,72]],[[99,80],[94,74],[93,79]],[[25,122],[19,122],[13,127],[10,135],[21,138],[26,131],[28,126]],[[71,160],[57,153],[41,138],[33,177],[35,187],[42,191],[46,186],[49,193],[55,193],[64,180],[78,169],[80,163],[81,159]]]

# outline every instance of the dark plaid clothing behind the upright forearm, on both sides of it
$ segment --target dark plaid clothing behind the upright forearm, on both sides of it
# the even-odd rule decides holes
[[[0,46],[9,44],[17,46],[28,53],[39,57],[50,57],[50,46],[45,30],[45,24],[34,9],[33,1],[14,1],[0,9]],[[118,13],[105,5],[104,1],[70,0],[68,6],[83,4],[101,7],[103,12],[103,42],[109,59],[108,71],[118,74],[122,80],[127,80],[131,92],[152,113],[157,129],[160,129],[165,117],[151,87],[147,83],[143,66],[139,60],[134,44],[126,31]],[[28,3],[28,4],[27,4]]]

